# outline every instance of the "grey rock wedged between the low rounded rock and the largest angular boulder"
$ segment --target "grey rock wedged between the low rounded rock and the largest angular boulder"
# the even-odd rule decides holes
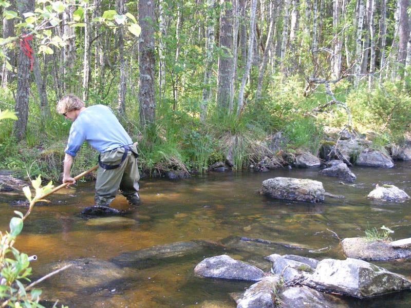
[[[274,274],[282,275],[284,281],[287,283],[297,282],[308,278],[314,272],[315,268],[315,266],[312,268],[309,264],[315,264],[316,261],[309,258],[306,258],[308,260],[304,260],[304,257],[298,258],[300,261],[295,261],[277,254],[272,254],[265,259],[272,262],[271,271]]]

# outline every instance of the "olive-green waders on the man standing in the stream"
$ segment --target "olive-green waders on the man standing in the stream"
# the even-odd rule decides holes
[[[124,147],[100,154],[100,162],[103,165],[120,165],[114,169],[104,169],[100,167],[97,171],[96,195],[94,200],[96,205],[109,206],[111,201],[116,198],[117,191],[120,189],[121,194],[128,198],[139,198],[138,180],[140,174],[137,167],[137,147],[129,145],[127,156],[122,162],[125,152]]]

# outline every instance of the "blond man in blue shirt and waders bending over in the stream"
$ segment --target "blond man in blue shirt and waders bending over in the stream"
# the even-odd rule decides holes
[[[76,95],[66,95],[57,112],[73,121],[64,157],[63,183],[74,184],[70,177],[73,158],[84,141],[100,152],[96,181],[96,205],[109,206],[120,188],[129,203],[138,205],[137,147],[109,107],[84,107]]]

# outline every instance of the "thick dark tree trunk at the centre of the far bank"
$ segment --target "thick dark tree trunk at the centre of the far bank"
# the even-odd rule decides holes
[[[225,2],[232,4],[232,0],[220,0],[221,5],[225,5]],[[226,112],[230,103],[230,78],[233,69],[233,10],[229,5],[220,14],[219,47],[224,48],[224,54],[218,57],[217,107]]]

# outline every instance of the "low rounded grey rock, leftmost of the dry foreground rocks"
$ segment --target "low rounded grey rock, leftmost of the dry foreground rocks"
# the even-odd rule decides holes
[[[206,258],[196,265],[194,274],[207,278],[260,281],[264,272],[227,255]]]

